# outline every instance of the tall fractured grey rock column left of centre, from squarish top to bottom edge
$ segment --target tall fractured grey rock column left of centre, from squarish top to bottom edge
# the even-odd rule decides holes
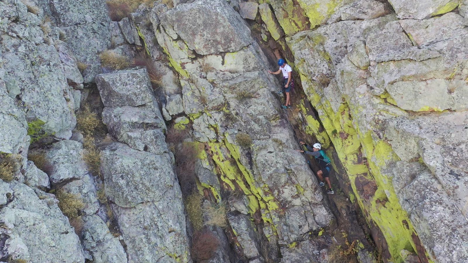
[[[182,194],[146,69],[105,73],[96,83],[102,121],[119,141],[103,150],[101,172],[129,262],[189,262]],[[129,83],[134,92],[124,92]]]

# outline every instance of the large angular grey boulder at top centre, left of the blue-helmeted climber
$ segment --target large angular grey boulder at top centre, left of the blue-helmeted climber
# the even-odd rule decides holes
[[[239,51],[253,41],[246,23],[224,0],[179,4],[160,19],[172,38],[181,37],[200,55]]]

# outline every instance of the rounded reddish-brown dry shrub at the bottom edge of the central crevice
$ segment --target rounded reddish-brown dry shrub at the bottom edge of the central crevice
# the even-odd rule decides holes
[[[219,248],[218,238],[208,230],[195,232],[192,240],[192,257],[197,260],[212,258]]]

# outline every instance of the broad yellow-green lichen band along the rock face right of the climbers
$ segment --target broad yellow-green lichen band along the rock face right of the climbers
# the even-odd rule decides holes
[[[316,90],[320,86],[314,87],[314,84],[307,76],[300,74],[301,81],[306,87],[306,93],[309,101],[319,112],[323,127],[329,139],[335,146],[338,158],[342,162],[351,183],[353,193],[350,194],[351,202],[358,203],[368,221],[373,221],[384,235],[388,250],[395,263],[402,263],[399,252],[407,249],[411,252],[416,251],[416,246],[411,237],[415,234],[413,226],[410,223],[407,213],[402,209],[399,200],[393,189],[392,180],[381,171],[387,167],[388,163],[398,161],[397,155],[392,147],[385,141],[375,139],[370,131],[366,134],[359,132],[353,125],[352,115],[359,114],[356,107],[353,112],[348,104],[343,103],[335,112],[326,100],[321,100]],[[389,95],[383,95],[387,100]],[[383,100],[382,100],[383,101]],[[315,127],[311,130],[317,137],[323,137]],[[331,136],[332,133],[340,136]],[[362,162],[361,152],[367,156],[367,165]],[[361,196],[360,190],[356,187],[356,180],[367,180],[375,182],[376,192],[374,196]],[[407,222],[405,224],[404,222]]]

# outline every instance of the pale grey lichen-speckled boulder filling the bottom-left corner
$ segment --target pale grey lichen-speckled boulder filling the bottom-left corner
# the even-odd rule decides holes
[[[32,262],[84,262],[80,239],[51,194],[22,183],[4,183],[0,208],[0,255]]]

